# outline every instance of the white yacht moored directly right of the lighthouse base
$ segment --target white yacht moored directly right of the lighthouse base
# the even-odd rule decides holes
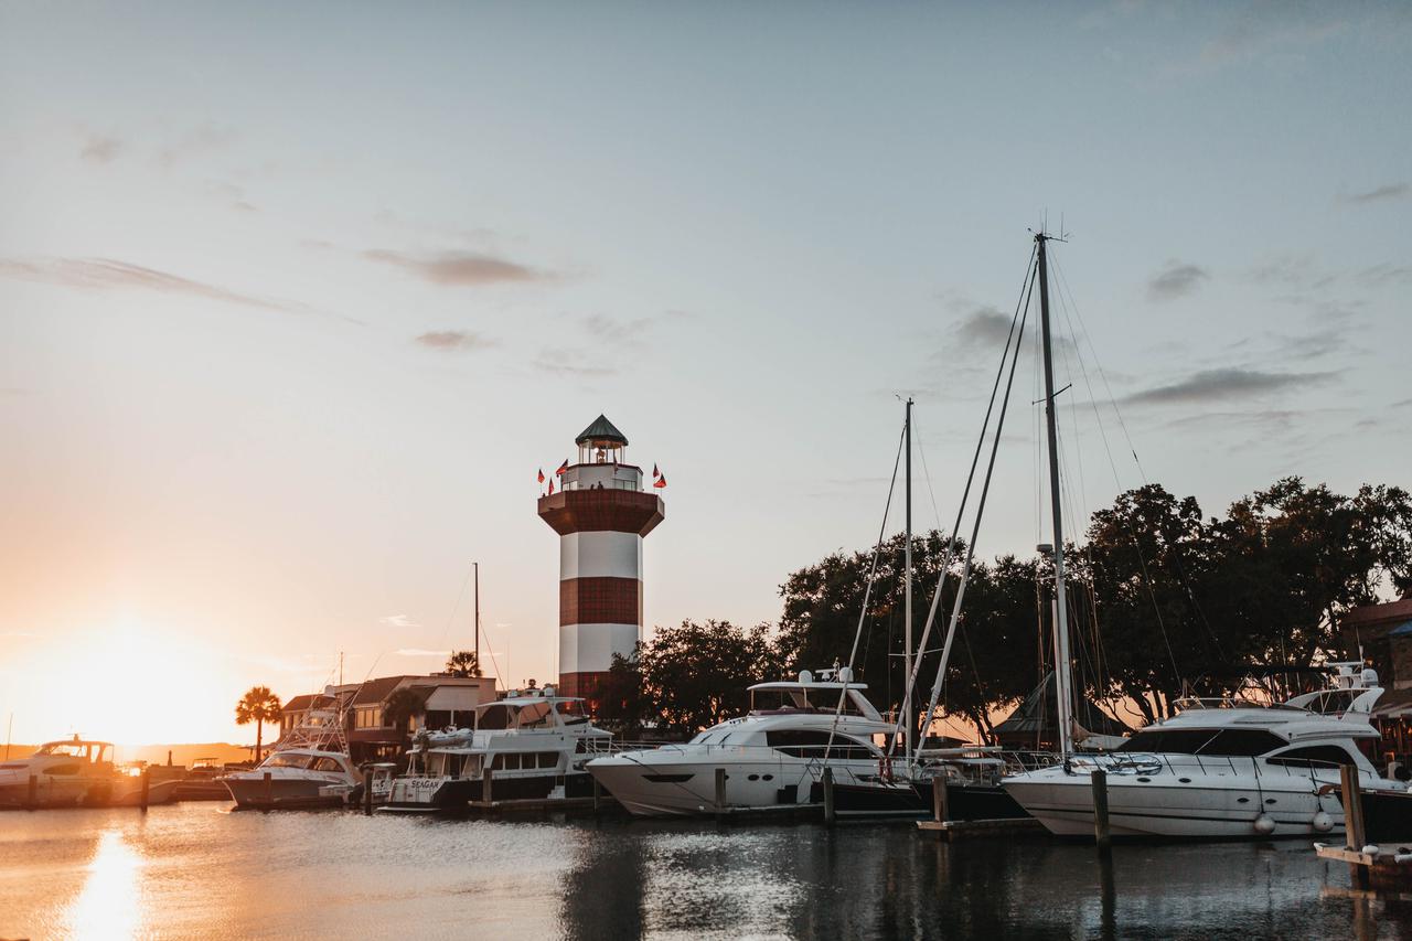
[[[892,723],[873,708],[847,667],[808,671],[798,681],[750,687],[750,712],[685,745],[620,752],[589,762],[589,773],[638,817],[717,810],[716,770],[724,770],[720,810],[778,810],[822,801],[822,774],[843,787],[875,784],[887,763],[874,736]]]

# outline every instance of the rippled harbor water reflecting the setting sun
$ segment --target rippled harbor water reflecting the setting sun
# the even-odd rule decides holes
[[[0,814],[0,937],[1412,937],[1303,841],[947,845],[911,825]]]

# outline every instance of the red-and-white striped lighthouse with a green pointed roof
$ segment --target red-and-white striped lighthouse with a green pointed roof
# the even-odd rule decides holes
[[[630,657],[642,636],[642,537],[664,507],[604,415],[575,444],[578,462],[539,497],[539,519],[559,534],[559,691],[593,701],[613,654]]]

